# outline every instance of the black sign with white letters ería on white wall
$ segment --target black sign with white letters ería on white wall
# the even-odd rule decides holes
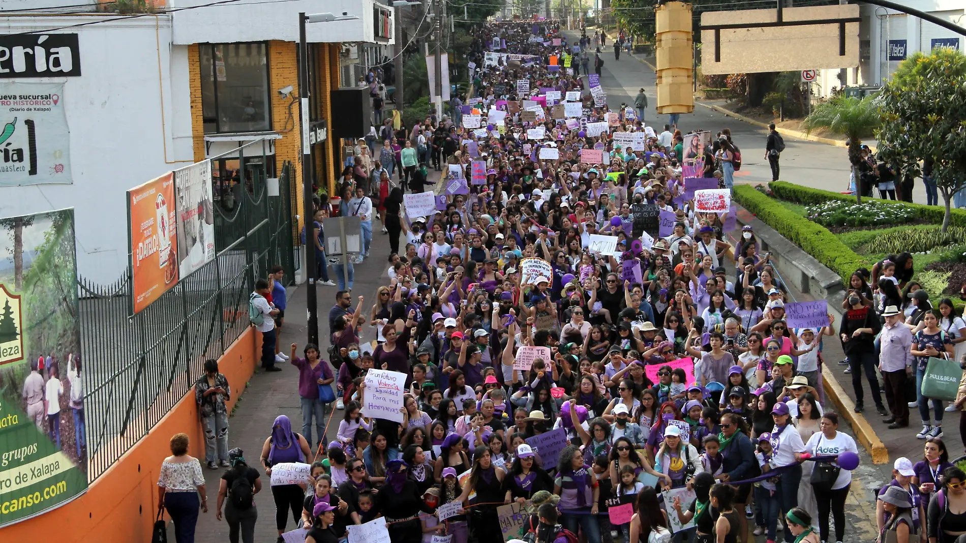
[[[0,36],[0,78],[80,75],[76,34]]]

